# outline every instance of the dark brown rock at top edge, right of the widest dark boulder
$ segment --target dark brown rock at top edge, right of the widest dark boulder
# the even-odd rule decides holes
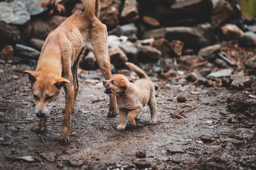
[[[211,11],[210,24],[214,28],[220,27],[235,13],[236,11],[234,11],[234,8],[232,8],[228,1],[220,0],[214,5],[214,8]]]

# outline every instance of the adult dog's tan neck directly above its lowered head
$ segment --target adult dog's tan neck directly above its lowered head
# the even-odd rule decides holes
[[[59,48],[44,48],[41,56],[38,59],[36,71],[44,73],[53,73],[61,76],[62,64],[61,64],[61,52]]]

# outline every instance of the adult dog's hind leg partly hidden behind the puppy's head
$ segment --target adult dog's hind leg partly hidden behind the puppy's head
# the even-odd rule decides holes
[[[96,57],[97,64],[102,71],[102,74],[106,80],[109,80],[112,77],[110,71],[110,61],[109,61],[109,54],[108,54],[108,32],[106,25],[102,24],[102,27],[98,27],[99,34],[95,37],[97,39],[93,39],[92,47],[93,53]],[[102,36],[102,32],[104,35]],[[109,95],[109,113],[108,117],[115,117],[116,116],[116,97],[113,95]]]

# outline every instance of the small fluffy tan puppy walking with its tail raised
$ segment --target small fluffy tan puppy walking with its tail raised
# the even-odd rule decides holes
[[[111,79],[103,81],[103,85],[106,87],[104,92],[106,94],[114,94],[117,99],[120,114],[118,130],[125,129],[126,120],[135,125],[135,118],[146,104],[150,108],[151,122],[156,122],[157,106],[154,84],[148,80],[147,74],[139,67],[131,62],[127,62],[126,65],[138,74],[139,80],[131,83],[123,74],[116,74]]]

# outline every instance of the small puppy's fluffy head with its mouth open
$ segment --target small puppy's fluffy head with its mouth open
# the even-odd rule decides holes
[[[129,87],[129,80],[123,74],[116,74],[111,79],[103,81],[106,94],[113,94],[115,96],[120,96]]]

